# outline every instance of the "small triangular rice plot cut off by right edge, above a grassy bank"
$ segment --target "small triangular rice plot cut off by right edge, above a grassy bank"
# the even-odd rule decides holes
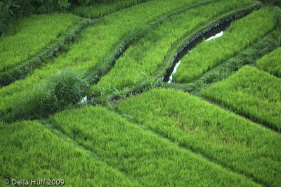
[[[256,61],[256,64],[259,69],[281,77],[281,47],[263,56],[263,58]]]

